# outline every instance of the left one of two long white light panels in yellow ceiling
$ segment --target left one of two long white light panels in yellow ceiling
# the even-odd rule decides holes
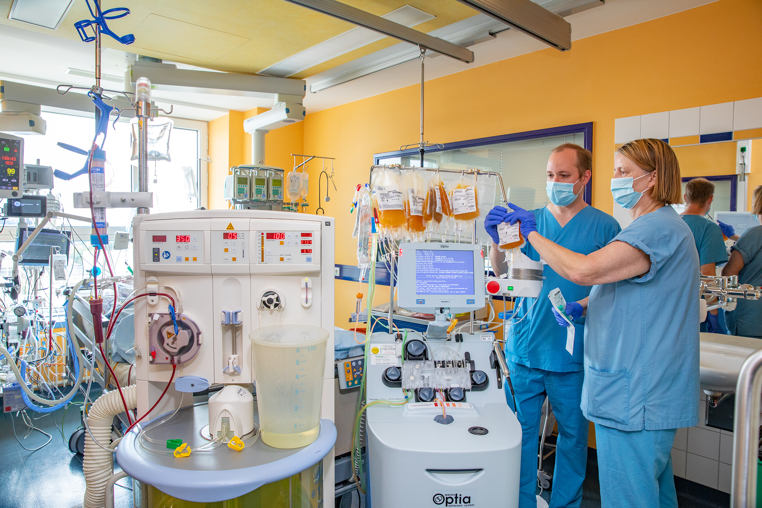
[[[381,18],[405,25],[405,27],[415,27],[415,25],[434,19],[436,16],[421,11],[421,9],[415,8],[412,5],[403,5],[399,9],[383,14]],[[297,72],[309,69],[313,65],[318,65],[319,63],[341,56],[344,53],[357,50],[357,48],[367,46],[384,37],[386,36],[374,32],[373,30],[368,30],[367,28],[353,28],[352,30],[347,30],[343,34],[338,34],[336,37],[331,37],[331,39],[312,46],[301,53],[296,53],[294,56],[290,56],[285,60],[277,62],[275,65],[271,65],[270,67],[267,67],[267,69],[261,70],[258,74],[274,76],[277,78],[288,78]]]

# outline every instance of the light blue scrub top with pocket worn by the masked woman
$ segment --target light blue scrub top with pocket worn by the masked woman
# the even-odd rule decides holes
[[[663,206],[632,221],[613,241],[648,254],[651,269],[590,292],[582,413],[620,430],[693,427],[700,394],[693,233]]]

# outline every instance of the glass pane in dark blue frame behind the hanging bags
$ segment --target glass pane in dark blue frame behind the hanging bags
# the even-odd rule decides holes
[[[489,145],[429,152],[424,155],[424,168],[472,169],[501,174],[506,199],[524,209],[542,208],[549,203],[546,194],[546,166],[550,151],[562,143],[584,146],[584,133],[519,139]],[[379,158],[378,164],[421,166],[418,154]],[[500,191],[495,204],[500,204]]]

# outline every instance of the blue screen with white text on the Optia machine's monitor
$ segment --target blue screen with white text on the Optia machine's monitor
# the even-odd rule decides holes
[[[473,295],[472,251],[415,251],[415,293]]]

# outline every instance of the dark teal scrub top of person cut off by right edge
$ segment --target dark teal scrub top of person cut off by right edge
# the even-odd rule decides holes
[[[744,258],[738,283],[762,286],[762,225],[744,231],[731,250]],[[735,311],[725,312],[725,323],[731,335],[762,337],[762,300],[738,299]]]

